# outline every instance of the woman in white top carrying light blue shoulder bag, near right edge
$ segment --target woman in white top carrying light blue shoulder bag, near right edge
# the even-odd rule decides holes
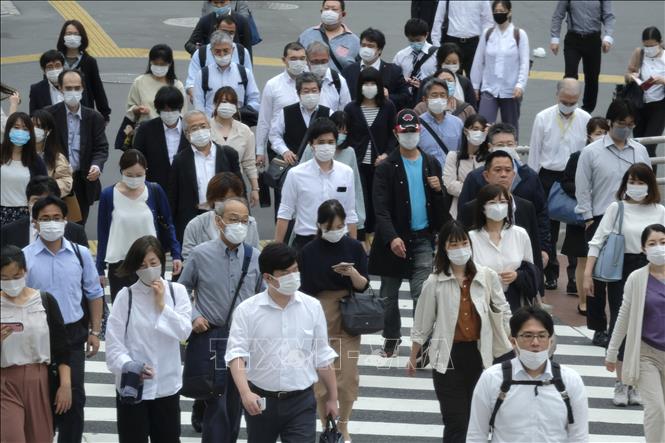
[[[623,176],[621,185],[616,194],[618,202],[607,207],[605,215],[600,220],[593,238],[589,241],[589,253],[584,270],[584,291],[587,297],[587,324],[589,329],[596,331],[594,338],[597,345],[607,345],[612,335],[619,315],[619,308],[624,294],[626,279],[634,270],[647,264],[642,244],[642,232],[651,224],[665,224],[665,207],[660,203],[660,191],[656,184],[656,176],[643,163],[636,163]],[[609,328],[605,315],[605,288],[596,288],[596,281],[592,279],[593,269],[596,265],[600,250],[605,244],[610,232],[619,232],[617,217],[623,214],[621,234],[624,236],[625,250],[623,257],[622,278],[616,282],[607,283],[607,302],[610,307]],[[607,332],[605,332],[607,330]],[[598,343],[603,337],[604,342]],[[627,404],[640,404],[639,392],[621,382],[621,362],[623,352],[618,355],[617,381],[614,391],[614,404],[625,406]]]

